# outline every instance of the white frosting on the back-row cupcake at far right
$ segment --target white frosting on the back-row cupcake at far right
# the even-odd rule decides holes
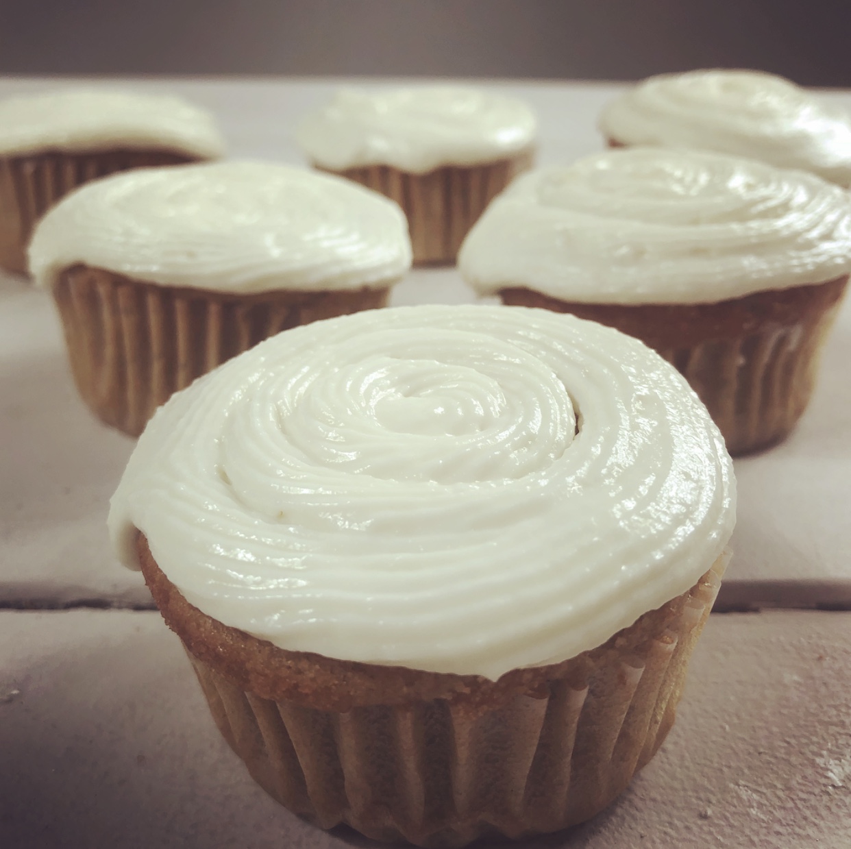
[[[851,185],[851,116],[773,74],[650,77],[606,107],[600,129],[625,145],[719,151]]]

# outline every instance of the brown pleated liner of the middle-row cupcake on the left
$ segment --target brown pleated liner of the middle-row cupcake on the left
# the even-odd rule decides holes
[[[54,284],[71,373],[92,412],[139,436],[171,394],[269,336],[373,309],[389,288],[234,295],[74,265]]]

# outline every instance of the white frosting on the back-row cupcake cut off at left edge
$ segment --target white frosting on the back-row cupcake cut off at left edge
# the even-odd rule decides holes
[[[214,159],[225,142],[208,112],[163,94],[75,88],[0,101],[0,156],[116,149]]]

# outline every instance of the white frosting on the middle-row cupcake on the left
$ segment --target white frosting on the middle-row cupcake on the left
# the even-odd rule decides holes
[[[411,265],[394,202],[271,162],[138,168],[83,185],[39,222],[29,255],[43,286],[82,263],[241,293],[384,287]]]

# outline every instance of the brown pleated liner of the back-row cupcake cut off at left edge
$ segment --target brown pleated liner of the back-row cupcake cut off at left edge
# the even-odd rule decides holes
[[[117,171],[195,162],[172,151],[38,153],[0,157],[0,267],[26,274],[26,247],[38,219],[78,185]]]

